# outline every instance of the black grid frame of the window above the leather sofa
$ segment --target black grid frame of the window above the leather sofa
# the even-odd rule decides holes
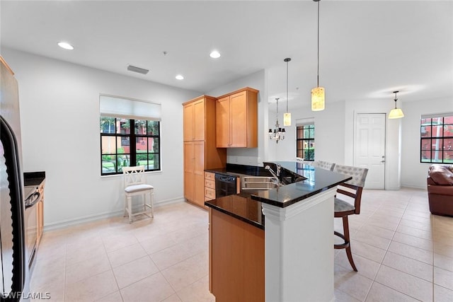
[[[449,119],[449,122],[446,119]],[[441,119],[440,123],[435,123],[435,120]],[[437,115],[422,115],[420,117],[420,149],[419,149],[419,156],[420,156],[420,163],[437,163],[437,164],[452,164],[452,158],[445,158],[445,151],[452,151],[453,152],[453,132],[451,135],[446,135],[446,130],[448,127],[453,127],[453,113],[442,113]],[[426,123],[426,120],[430,120],[430,124]],[[437,127],[436,132],[441,131],[442,135],[435,135],[434,131],[432,131],[433,127]],[[441,127],[441,128],[438,128]],[[426,131],[426,129],[430,131]],[[428,136],[425,136],[428,134]],[[433,144],[435,141],[435,144]],[[450,141],[450,144],[447,145],[449,149],[445,149],[445,141]],[[432,149],[432,147],[440,146],[440,148]],[[428,149],[427,147],[428,146]],[[429,152],[430,156],[425,156],[427,158],[423,158],[423,155]],[[433,158],[432,153],[435,152],[436,154],[440,154],[440,158]]]

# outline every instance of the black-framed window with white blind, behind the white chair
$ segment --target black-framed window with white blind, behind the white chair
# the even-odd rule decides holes
[[[161,170],[160,104],[101,95],[100,108],[101,175]]]

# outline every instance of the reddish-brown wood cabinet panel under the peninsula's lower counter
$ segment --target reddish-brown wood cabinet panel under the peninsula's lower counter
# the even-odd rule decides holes
[[[264,231],[210,211],[210,291],[216,302],[265,301]]]

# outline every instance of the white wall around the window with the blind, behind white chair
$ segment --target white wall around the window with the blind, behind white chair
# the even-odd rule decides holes
[[[162,103],[162,171],[147,173],[155,202],[183,199],[182,103],[202,93],[2,48],[16,73],[23,170],[45,170],[45,225],[122,211],[122,178],[101,178],[99,94]]]

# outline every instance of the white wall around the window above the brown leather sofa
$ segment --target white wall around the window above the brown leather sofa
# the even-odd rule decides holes
[[[404,104],[402,185],[426,190],[426,177],[430,163],[420,163],[420,117],[436,113],[453,112],[452,98],[440,98]]]

